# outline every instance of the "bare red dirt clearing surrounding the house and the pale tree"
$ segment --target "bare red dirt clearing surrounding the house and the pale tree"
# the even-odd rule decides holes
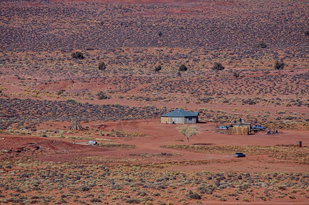
[[[138,148],[98,148],[94,146],[82,146],[73,144],[72,139],[51,139],[47,137],[27,137],[1,135],[1,150],[10,150],[8,154],[14,156],[32,156],[34,159],[43,161],[76,161],[77,158],[86,156],[110,156],[114,158],[138,159],[140,163],[163,163],[164,161],[196,161],[209,160],[207,165],[173,166],[170,170],[201,171],[209,172],[306,172],[308,165],[284,162],[270,158],[267,154],[247,155],[244,159],[235,159],[232,154],[203,154],[188,152],[186,150],[170,150],[160,146],[171,144],[184,144],[184,139],[177,133],[177,125],[160,124],[160,119],[134,120],[121,122],[106,122],[106,130],[118,129],[122,131],[139,131],[147,133],[144,137],[101,137],[95,138],[112,139],[114,143],[126,143],[138,146]],[[99,123],[95,123],[96,125]],[[53,123],[53,127],[63,124]],[[90,124],[82,124],[87,126]],[[200,133],[190,138],[190,144],[204,146],[275,146],[277,144],[291,145],[302,141],[308,143],[308,131],[280,131],[278,135],[266,135],[259,132],[254,135],[227,135],[214,133],[217,124],[198,124]],[[74,140],[76,141],[76,140]],[[78,140],[77,140],[78,141]],[[79,140],[81,141],[81,140]],[[85,141],[85,140],[84,140]],[[36,150],[38,146],[40,149]],[[301,148],[300,148],[301,149]],[[18,152],[18,150],[21,150]],[[240,150],[241,151],[241,150]],[[160,154],[173,153],[174,156],[143,158],[132,154]],[[10,154],[10,155],[11,155]],[[4,155],[5,156],[5,155]],[[12,156],[12,155],[11,155]],[[92,161],[95,163],[95,161]]]

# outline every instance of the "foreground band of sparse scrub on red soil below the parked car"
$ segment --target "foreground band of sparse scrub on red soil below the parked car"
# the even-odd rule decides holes
[[[79,159],[79,162],[84,162],[84,159]],[[187,165],[196,163],[209,162],[192,161],[192,164]],[[171,172],[162,169],[173,163],[132,166],[34,161],[28,164],[31,169],[14,163],[13,167],[19,170],[18,174],[9,171],[1,178],[3,187],[0,188],[0,202],[6,203],[3,200],[6,199],[12,203],[63,204],[81,203],[83,200],[83,204],[173,204],[166,202],[168,198],[173,202],[182,199],[197,204],[198,200],[208,197],[218,202],[237,202],[240,199],[243,202],[264,202],[271,201],[276,195],[306,200],[306,195],[295,196],[295,193],[306,193],[308,184],[308,173]],[[25,180],[27,185],[21,183]],[[154,190],[153,194],[149,189]],[[193,189],[195,191],[191,191]],[[34,190],[40,193],[34,193]],[[51,190],[57,192],[50,195]],[[166,190],[169,191],[168,195]]]

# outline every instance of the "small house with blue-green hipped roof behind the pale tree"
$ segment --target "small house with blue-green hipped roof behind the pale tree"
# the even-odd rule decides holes
[[[199,122],[199,112],[189,112],[182,109],[171,111],[161,115],[161,123],[164,124],[193,124]]]

